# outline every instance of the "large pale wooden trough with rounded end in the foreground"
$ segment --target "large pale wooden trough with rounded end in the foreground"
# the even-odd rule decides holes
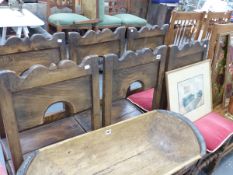
[[[204,154],[203,138],[189,120],[152,111],[40,149],[17,175],[178,175]]]

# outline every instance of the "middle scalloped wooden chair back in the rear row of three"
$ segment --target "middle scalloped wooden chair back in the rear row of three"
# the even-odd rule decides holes
[[[84,36],[77,32],[70,32],[69,53],[71,60],[80,63],[88,55],[104,56],[109,53],[121,56],[125,49],[125,31],[125,27],[119,27],[114,32],[110,29],[89,30]]]

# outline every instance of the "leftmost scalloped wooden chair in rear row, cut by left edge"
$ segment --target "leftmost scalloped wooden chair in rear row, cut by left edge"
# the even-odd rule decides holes
[[[5,45],[0,46],[0,70],[13,70],[18,75],[34,64],[49,66],[64,59],[65,34],[62,32],[54,33],[50,39],[41,34],[25,39],[11,37]],[[0,115],[0,135],[4,136],[4,133]]]

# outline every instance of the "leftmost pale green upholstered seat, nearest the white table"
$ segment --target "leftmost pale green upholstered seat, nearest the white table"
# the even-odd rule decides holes
[[[51,24],[60,26],[69,26],[74,24],[74,22],[88,21],[89,18],[78,15],[76,13],[55,13],[49,16],[48,21]],[[82,26],[90,26],[91,24],[82,24]]]

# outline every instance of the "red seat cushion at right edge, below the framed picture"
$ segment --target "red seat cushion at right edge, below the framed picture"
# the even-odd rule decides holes
[[[195,121],[195,125],[205,139],[208,152],[215,152],[233,134],[233,121],[215,112]]]

